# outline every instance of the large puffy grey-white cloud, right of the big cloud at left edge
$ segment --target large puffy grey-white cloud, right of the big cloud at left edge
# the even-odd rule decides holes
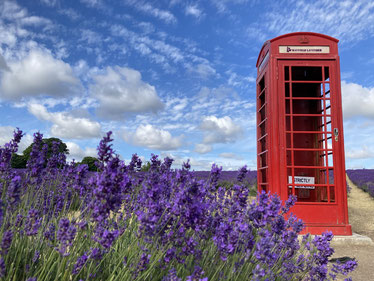
[[[163,103],[154,86],[141,80],[139,71],[126,67],[108,67],[103,75],[94,76],[93,97],[99,100],[98,112],[108,118],[122,118],[130,113],[161,110]]]

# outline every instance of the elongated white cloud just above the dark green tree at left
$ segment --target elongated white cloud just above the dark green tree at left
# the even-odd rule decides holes
[[[73,117],[67,112],[48,112],[40,104],[30,104],[28,110],[40,120],[52,122],[51,134],[65,139],[100,137],[101,126],[88,118]]]

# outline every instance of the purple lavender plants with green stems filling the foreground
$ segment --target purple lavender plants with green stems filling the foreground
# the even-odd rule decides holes
[[[231,185],[153,155],[119,159],[109,132],[99,171],[67,164],[58,143],[35,133],[27,169],[11,169],[21,131],[0,150],[1,280],[336,280],[356,261],[328,270],[331,233],[299,242],[302,221],[277,196],[249,200],[246,167]],[[226,179],[227,181],[227,179]]]

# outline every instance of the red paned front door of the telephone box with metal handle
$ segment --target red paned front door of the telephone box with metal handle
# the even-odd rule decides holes
[[[337,202],[345,188],[341,107],[335,96],[334,60],[279,60],[279,141],[282,199],[297,196],[293,212],[303,221],[345,223]],[[340,102],[340,100],[339,100]],[[341,118],[341,117],[340,117]]]

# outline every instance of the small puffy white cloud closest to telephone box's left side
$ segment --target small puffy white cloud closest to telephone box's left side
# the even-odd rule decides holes
[[[206,116],[200,125],[204,132],[205,144],[235,142],[241,135],[242,129],[229,116],[217,118]]]

